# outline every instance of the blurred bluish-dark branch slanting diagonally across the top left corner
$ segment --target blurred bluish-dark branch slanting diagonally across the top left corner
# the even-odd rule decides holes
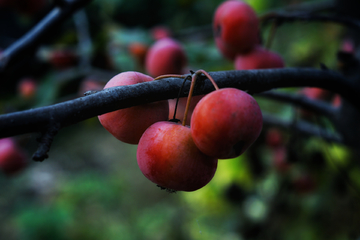
[[[49,32],[54,31],[71,14],[89,2],[91,0],[64,1],[62,6],[55,7],[34,28],[2,52],[0,55],[0,73],[5,72],[23,54],[37,49]]]

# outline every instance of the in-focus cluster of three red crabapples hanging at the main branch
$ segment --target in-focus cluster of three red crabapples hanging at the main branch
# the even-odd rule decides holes
[[[143,73],[122,72],[105,88],[153,80]],[[217,88],[201,98],[190,125],[168,119],[168,100],[99,116],[100,123],[118,140],[138,144],[142,173],[171,191],[205,186],[213,178],[218,160],[241,155],[262,129],[262,113],[255,99],[234,88]]]

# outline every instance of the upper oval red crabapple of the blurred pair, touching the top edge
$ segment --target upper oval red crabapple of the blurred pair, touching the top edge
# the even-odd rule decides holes
[[[259,42],[259,20],[251,6],[243,1],[221,3],[214,14],[213,31],[216,45],[230,60],[250,51]]]

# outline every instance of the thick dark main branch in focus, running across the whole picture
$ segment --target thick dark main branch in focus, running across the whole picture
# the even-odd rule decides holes
[[[333,71],[286,68],[247,71],[220,71],[210,75],[220,88],[234,87],[249,93],[273,88],[319,87],[340,94],[360,110],[360,87]],[[0,138],[43,132],[52,122],[66,127],[88,118],[144,103],[177,97],[182,78],[165,78],[141,84],[108,88],[94,94],[51,106],[0,115]],[[214,90],[210,81],[198,81],[194,95]],[[185,84],[188,91],[190,83]],[[183,92],[181,96],[186,96]]]

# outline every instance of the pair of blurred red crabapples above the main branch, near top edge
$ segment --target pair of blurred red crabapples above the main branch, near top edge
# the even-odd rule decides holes
[[[222,55],[234,62],[237,70],[282,68],[280,55],[261,45],[259,19],[247,3],[227,0],[215,11],[215,43]]]

